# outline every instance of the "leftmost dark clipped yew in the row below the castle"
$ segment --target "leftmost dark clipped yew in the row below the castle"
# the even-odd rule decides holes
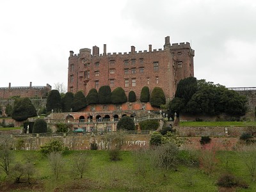
[[[49,92],[49,95],[47,97],[46,102],[46,111],[50,112],[52,111],[60,111],[61,110],[61,97],[60,92],[58,90],[51,90]]]

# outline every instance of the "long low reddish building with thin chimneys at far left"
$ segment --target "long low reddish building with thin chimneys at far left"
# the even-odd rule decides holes
[[[46,86],[32,86],[32,82],[29,86],[11,86],[9,83],[8,87],[0,87],[0,99],[10,99],[10,97],[46,97],[47,93],[50,92],[52,86],[46,84]]]

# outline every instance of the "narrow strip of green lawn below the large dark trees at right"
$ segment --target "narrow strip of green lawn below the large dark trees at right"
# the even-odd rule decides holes
[[[182,127],[243,127],[256,126],[256,122],[179,122]]]

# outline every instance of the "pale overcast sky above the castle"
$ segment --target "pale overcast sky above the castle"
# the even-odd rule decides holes
[[[195,77],[256,86],[255,0],[1,0],[0,87],[67,86],[69,51],[191,42]]]

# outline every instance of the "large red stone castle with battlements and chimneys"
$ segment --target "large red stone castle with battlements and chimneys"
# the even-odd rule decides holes
[[[143,86],[148,86],[150,92],[154,87],[161,87],[166,99],[172,99],[180,79],[194,76],[195,51],[187,42],[170,44],[170,36],[166,36],[164,49],[153,49],[148,45],[148,51],[106,52],[99,47],[80,49],[79,54],[70,51],[68,58],[68,92],[80,90],[87,95],[92,88],[99,90],[100,86],[109,85],[111,91],[122,87],[126,95],[132,90],[140,99]]]

